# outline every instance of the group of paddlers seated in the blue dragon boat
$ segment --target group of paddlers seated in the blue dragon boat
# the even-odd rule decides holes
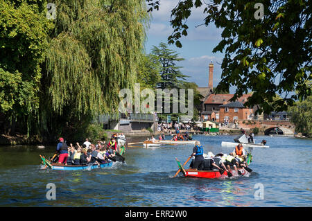
[[[120,139],[120,141],[119,141]],[[75,146],[72,143],[68,146],[61,137],[56,147],[56,153],[51,158],[51,162],[58,162],[64,165],[88,165],[89,163],[108,163],[110,161],[125,160],[121,155],[125,151],[125,137],[123,134],[113,134],[109,143],[97,141],[94,145],[85,139],[82,146],[77,142]],[[124,142],[123,142],[124,141]]]

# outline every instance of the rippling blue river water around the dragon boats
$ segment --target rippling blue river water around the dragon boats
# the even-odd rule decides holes
[[[233,148],[222,148],[221,142],[235,137],[195,135],[193,139],[206,153],[228,154]],[[39,154],[53,155],[56,143],[44,149],[3,146],[0,206],[311,206],[312,140],[255,139],[266,139],[270,148],[254,148],[250,176],[233,179],[173,178],[175,157],[184,163],[193,145],[128,148],[125,164],[90,171],[41,170]],[[46,199],[49,183],[56,186],[56,200]]]

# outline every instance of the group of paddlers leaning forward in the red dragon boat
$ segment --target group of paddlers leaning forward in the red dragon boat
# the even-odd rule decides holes
[[[247,154],[241,143],[229,154],[218,153],[214,155],[212,152],[205,154],[200,142],[196,141],[190,158],[193,158],[190,168],[197,170],[219,170],[221,174],[227,171],[227,175],[230,177],[233,170],[236,172],[236,175],[241,175],[239,169],[242,168],[248,172],[252,171],[248,168],[248,163],[250,162],[247,162]]]

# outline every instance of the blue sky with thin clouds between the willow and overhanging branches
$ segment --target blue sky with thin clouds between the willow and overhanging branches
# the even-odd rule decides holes
[[[153,46],[160,42],[167,43],[167,38],[173,32],[170,26],[171,10],[177,5],[178,0],[160,1],[159,10],[153,10],[150,28],[147,31],[146,53],[150,53]],[[182,73],[189,76],[190,82],[196,82],[199,87],[208,87],[209,63],[214,63],[214,87],[220,82],[220,63],[223,59],[222,53],[212,53],[212,50],[221,40],[222,30],[214,25],[196,26],[204,22],[205,15],[202,13],[204,7],[193,8],[191,17],[187,21],[189,26],[188,35],[182,36],[180,42],[182,48],[169,45],[169,48],[177,51],[185,60],[177,65],[183,67]],[[217,62],[219,64],[217,64]],[[230,89],[232,92],[232,89]]]

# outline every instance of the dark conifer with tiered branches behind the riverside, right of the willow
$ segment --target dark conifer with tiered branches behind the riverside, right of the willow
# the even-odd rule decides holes
[[[172,89],[182,86],[182,82],[188,77],[182,74],[181,67],[177,66],[177,62],[184,60],[179,58],[179,54],[168,48],[165,43],[160,43],[159,46],[153,46],[152,54],[157,56],[162,69],[160,76],[162,80],[157,84],[157,88]]]

